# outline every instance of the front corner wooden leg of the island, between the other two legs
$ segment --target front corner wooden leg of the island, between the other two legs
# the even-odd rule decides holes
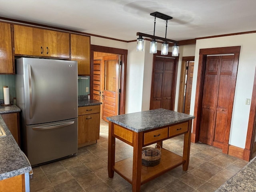
[[[133,132],[132,192],[140,192],[142,168],[142,132]]]

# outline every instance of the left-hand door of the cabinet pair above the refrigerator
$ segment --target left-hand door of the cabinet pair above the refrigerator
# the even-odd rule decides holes
[[[14,53],[20,55],[44,55],[44,30],[14,25]]]

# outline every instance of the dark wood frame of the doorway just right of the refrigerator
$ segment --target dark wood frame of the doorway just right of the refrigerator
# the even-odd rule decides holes
[[[128,50],[126,49],[119,49],[119,48],[112,48],[112,47],[105,47],[99,45],[92,45],[90,46],[90,93],[93,93],[93,60],[94,60],[94,51],[95,52],[104,52],[104,53],[111,53],[111,54],[118,54],[122,56],[122,68],[120,71],[121,83],[120,83],[120,100],[119,100],[119,114],[125,114],[125,99],[126,99],[126,71],[127,71],[127,55]]]

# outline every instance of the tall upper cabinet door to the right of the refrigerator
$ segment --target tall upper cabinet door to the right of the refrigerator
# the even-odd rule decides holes
[[[78,63],[78,75],[90,75],[90,37],[71,34],[71,60]]]

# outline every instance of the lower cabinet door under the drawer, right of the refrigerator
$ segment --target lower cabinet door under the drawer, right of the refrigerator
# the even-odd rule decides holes
[[[78,116],[78,145],[100,138],[100,113]]]

